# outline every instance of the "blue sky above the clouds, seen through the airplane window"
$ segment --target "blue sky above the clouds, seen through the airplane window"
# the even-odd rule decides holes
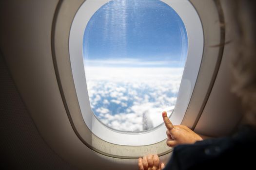
[[[91,17],[83,54],[89,66],[184,67],[187,34],[160,0],[112,0]]]

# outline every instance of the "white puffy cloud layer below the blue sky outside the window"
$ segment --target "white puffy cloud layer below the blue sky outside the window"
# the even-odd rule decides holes
[[[183,68],[86,67],[91,108],[110,128],[152,129],[162,123],[161,112],[175,105],[182,72]]]

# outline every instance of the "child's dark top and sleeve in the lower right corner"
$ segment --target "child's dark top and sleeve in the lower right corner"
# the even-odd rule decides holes
[[[255,154],[256,135],[253,133],[207,139],[175,147],[164,170],[247,169],[255,167]]]

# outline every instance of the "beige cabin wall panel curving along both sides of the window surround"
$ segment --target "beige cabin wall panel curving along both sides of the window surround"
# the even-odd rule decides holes
[[[228,12],[231,1],[221,3],[227,21],[227,41],[232,40],[234,34]],[[135,159],[111,158],[92,151],[72,129],[52,59],[51,31],[58,2],[0,1],[0,51],[21,99],[46,145],[64,161],[79,169],[137,169]],[[232,74],[229,65],[233,49],[233,43],[225,46],[216,82],[195,129],[198,133],[210,136],[229,134],[241,118],[239,101],[230,92]],[[162,159],[166,161],[168,157]]]

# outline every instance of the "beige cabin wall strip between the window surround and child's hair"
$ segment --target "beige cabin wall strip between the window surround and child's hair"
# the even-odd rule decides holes
[[[232,133],[241,119],[239,99],[231,92],[232,88],[232,57],[236,55],[234,16],[230,15],[232,0],[221,0],[225,16],[225,43],[223,57],[217,78],[203,113],[197,122],[195,131],[208,136],[223,136]],[[222,44],[223,45],[223,44]]]

